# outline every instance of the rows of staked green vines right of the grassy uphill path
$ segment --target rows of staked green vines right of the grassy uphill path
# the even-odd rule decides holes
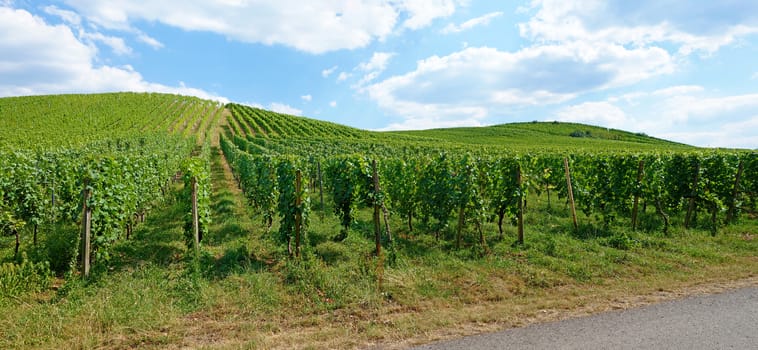
[[[684,221],[676,224],[708,228],[713,235],[743,211],[756,210],[755,152],[677,150],[683,147],[676,144],[671,146],[677,151],[641,151],[645,147],[626,140],[622,146],[630,148],[624,150],[590,150],[581,145],[565,153],[526,151],[502,144],[482,147],[471,141],[328,133],[303,118],[240,105],[231,105],[231,110],[234,126],[222,136],[221,149],[267,225],[275,215],[282,218],[280,234],[288,245],[293,230],[307,229],[305,220],[293,228],[292,218],[310,209],[303,207],[306,204],[291,205],[314,202],[306,187],[308,193],[318,192],[322,211],[324,192],[332,198],[331,207],[342,225],[339,240],[346,238],[358,208],[381,209],[386,234],[379,237],[382,223],[375,215],[377,254],[380,241],[392,240],[388,211],[403,217],[405,232],[414,231],[416,219],[423,227],[420,233],[433,234],[436,240],[455,222],[457,248],[464,229],[473,226],[485,251],[488,235],[483,227],[488,221],[497,221],[499,240],[504,221],[519,221],[518,242],[523,244],[520,221],[529,193],[538,198],[544,194],[548,208],[560,202],[570,206],[574,230],[579,229],[577,209],[589,226],[599,230],[623,221],[636,230],[638,218],[650,216],[647,230],[668,233],[672,216],[683,216]],[[461,131],[459,138],[452,137],[455,130],[446,134],[448,139],[467,139],[470,130]],[[484,137],[484,143],[491,140]],[[309,186],[295,187],[295,172]]]

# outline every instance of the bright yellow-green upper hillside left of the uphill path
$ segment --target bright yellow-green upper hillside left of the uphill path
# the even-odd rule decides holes
[[[196,97],[105,93],[0,98],[0,145],[82,146],[100,140],[175,134],[205,139],[223,106]]]

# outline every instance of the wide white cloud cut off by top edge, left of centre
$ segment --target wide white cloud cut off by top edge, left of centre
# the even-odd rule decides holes
[[[107,29],[132,31],[156,22],[229,39],[284,45],[309,53],[368,46],[402,28],[420,29],[452,15],[461,0],[66,0],[82,16]],[[403,20],[404,19],[404,20]],[[282,25],[286,23],[287,25]]]

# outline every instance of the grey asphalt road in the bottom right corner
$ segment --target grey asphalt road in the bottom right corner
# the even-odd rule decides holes
[[[758,287],[515,328],[415,349],[758,350]]]

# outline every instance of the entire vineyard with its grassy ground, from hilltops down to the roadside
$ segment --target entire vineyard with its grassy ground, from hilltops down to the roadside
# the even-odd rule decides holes
[[[446,327],[376,323],[393,313],[745,277],[758,256],[756,151],[557,122],[372,132],[141,93],[0,98],[0,122],[4,348],[195,347],[163,329],[206,313],[258,337],[358,322],[318,347],[365,346]],[[116,311],[82,316],[93,298]],[[50,312],[95,317],[90,340],[21,326]],[[232,344],[282,345],[261,339]]]

